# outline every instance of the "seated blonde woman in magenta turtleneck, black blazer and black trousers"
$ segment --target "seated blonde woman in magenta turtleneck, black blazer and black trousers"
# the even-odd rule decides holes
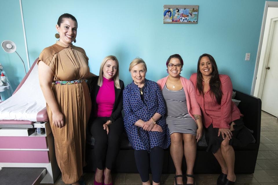
[[[94,137],[96,163],[94,185],[112,185],[111,170],[120,150],[120,135],[124,129],[122,92],[124,82],[119,79],[118,59],[109,55],[100,64],[99,76],[87,82],[92,100],[88,124]]]

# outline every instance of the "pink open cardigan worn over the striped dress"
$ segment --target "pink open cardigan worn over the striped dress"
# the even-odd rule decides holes
[[[166,84],[167,79],[168,79],[168,76],[157,81],[157,84],[160,87],[160,90],[163,89],[164,85]],[[195,87],[190,80],[188,80],[182,76],[180,77],[180,81],[182,82],[182,87],[184,89],[185,96],[186,96],[187,110],[189,112],[189,115],[195,120],[193,114],[202,115],[200,106],[197,103],[197,100],[195,97]]]

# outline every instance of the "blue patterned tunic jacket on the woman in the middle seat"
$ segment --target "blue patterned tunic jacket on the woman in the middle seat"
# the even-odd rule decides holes
[[[124,123],[129,142],[135,150],[151,151],[156,146],[166,149],[170,145],[170,135],[164,118],[165,105],[162,93],[156,82],[147,79],[143,90],[144,101],[140,97],[139,87],[134,82],[127,85],[123,91]],[[156,112],[161,115],[156,123],[163,132],[148,132],[134,125],[139,119],[149,121]]]

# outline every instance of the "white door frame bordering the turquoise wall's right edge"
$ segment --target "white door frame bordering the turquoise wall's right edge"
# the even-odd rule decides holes
[[[259,61],[260,61],[260,56],[261,56],[261,47],[262,47],[262,44],[263,44],[264,29],[265,29],[265,26],[266,26],[266,15],[267,15],[268,8],[278,8],[278,2],[277,1],[266,1],[265,7],[264,7],[264,15],[263,15],[262,23],[261,23],[261,34],[260,34],[260,39],[259,39],[259,47],[258,47],[258,51],[257,51],[254,77],[253,77],[253,82],[252,82],[252,87],[251,87],[251,95],[254,95],[256,81],[258,80],[257,81],[257,85],[259,85],[259,91],[258,91],[259,93],[258,93],[258,96],[257,96],[258,98],[261,98],[262,90],[264,88],[263,84],[264,84],[264,80],[265,80],[265,76],[266,76],[265,75],[266,72],[264,71],[266,64],[265,64],[265,60],[264,60],[263,68],[260,69],[260,70],[262,70],[261,77],[260,77],[260,79],[257,79],[257,73],[258,73],[258,70],[259,70]],[[272,36],[271,36],[271,38],[272,38]],[[270,42],[270,44],[271,44],[271,42]],[[268,45],[269,45],[269,43],[267,42],[267,48],[270,48],[270,47],[268,47]],[[269,53],[268,53],[268,56],[269,56]],[[263,82],[263,84],[261,84],[261,82]]]

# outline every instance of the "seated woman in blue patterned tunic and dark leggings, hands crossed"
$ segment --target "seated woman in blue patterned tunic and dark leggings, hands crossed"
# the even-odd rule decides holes
[[[129,65],[133,82],[123,91],[124,125],[142,184],[150,185],[149,166],[153,185],[160,184],[164,150],[170,145],[165,123],[165,105],[156,82],[145,79],[147,66],[141,58]]]

